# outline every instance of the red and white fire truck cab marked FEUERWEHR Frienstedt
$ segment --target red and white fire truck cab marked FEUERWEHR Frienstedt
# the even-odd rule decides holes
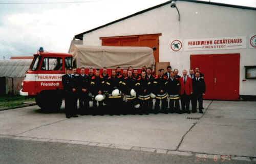
[[[40,48],[39,52],[34,54],[19,94],[35,97],[41,109],[59,109],[63,98],[61,77],[65,75],[67,67],[71,66],[72,55],[44,52]]]

